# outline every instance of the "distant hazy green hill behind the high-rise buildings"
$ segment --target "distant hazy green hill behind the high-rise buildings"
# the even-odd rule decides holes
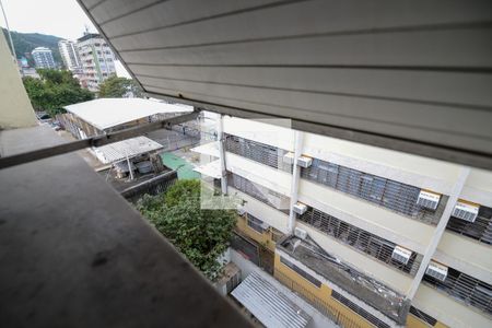
[[[2,31],[10,48],[9,35],[7,33],[7,30],[2,27]],[[34,48],[46,47],[51,49],[55,61],[63,65],[63,62],[61,61],[60,51],[58,50],[58,40],[62,39],[61,37],[39,33],[19,33],[14,31],[11,31],[11,34],[17,58],[24,57],[25,52],[31,54]],[[34,61],[31,56],[25,57],[27,58],[30,66],[34,67]]]

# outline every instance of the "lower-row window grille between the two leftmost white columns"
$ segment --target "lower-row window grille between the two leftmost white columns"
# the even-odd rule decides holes
[[[277,191],[270,190],[263,186],[256,185],[250,180],[233,173],[230,173],[227,184],[236,188],[237,190],[241,190],[258,199],[259,201],[271,206],[274,209],[289,213],[289,203],[290,203],[289,197],[285,197]],[[288,207],[286,209],[284,208],[284,204],[286,204]]]

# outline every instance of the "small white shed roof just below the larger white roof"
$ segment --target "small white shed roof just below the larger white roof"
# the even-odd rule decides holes
[[[162,148],[159,142],[142,136],[94,148],[93,151],[102,163],[109,164]]]

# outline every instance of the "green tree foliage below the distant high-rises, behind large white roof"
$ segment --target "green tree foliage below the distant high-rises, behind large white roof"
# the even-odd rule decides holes
[[[63,106],[91,101],[94,94],[82,89],[70,71],[38,69],[40,79],[23,78],[24,87],[36,110],[46,110],[51,117],[63,113]]]

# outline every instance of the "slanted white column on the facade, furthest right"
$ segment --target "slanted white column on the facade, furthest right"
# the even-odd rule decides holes
[[[407,300],[411,301],[413,298],[413,296],[415,296],[415,293],[417,293],[417,290],[419,289],[420,282],[422,281],[425,270],[427,269],[429,262],[431,261],[432,257],[434,256],[435,249],[437,248],[437,245],[440,244],[441,237],[443,236],[443,233],[446,230],[447,223],[449,222],[452,211],[455,208],[456,202],[458,201],[458,197],[461,194],[462,187],[465,186],[465,183],[467,180],[469,173],[470,173],[469,167],[462,167],[459,173],[458,179],[456,180],[455,185],[453,186],[453,190],[449,195],[446,207],[444,208],[443,215],[441,215],[441,220],[437,223],[436,229],[434,230],[434,234],[432,235],[431,242],[429,243],[427,247],[425,248],[425,254],[422,259],[422,262],[420,263],[419,271],[417,271],[417,274],[413,278],[412,284],[410,285],[410,288],[407,292],[407,296],[406,296]]]

